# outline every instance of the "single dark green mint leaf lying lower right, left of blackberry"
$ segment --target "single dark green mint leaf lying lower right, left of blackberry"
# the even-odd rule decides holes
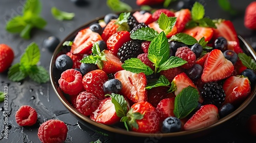
[[[181,90],[175,97],[174,114],[176,117],[185,118],[198,105],[199,93],[195,87],[188,86]]]

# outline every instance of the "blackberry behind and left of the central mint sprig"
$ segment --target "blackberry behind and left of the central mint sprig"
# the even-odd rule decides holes
[[[139,54],[142,54],[141,45],[134,40],[125,42],[119,49],[117,56],[121,62],[124,62],[130,58],[137,58]]]

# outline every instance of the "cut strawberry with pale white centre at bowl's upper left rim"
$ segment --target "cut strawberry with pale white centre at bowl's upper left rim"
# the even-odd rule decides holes
[[[89,54],[92,51],[93,43],[99,40],[102,38],[98,33],[89,28],[82,29],[77,33],[70,52],[72,54]]]

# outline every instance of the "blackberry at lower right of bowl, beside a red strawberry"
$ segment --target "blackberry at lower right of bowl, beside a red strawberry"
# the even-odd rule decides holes
[[[202,105],[214,104],[218,108],[220,108],[226,97],[222,85],[217,82],[205,83],[201,93],[204,99]]]

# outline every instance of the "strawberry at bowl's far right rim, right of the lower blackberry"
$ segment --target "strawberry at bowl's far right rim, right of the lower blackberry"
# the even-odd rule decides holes
[[[231,76],[225,80],[223,84],[223,89],[226,94],[223,105],[226,103],[238,105],[250,93],[250,81],[244,76]]]

